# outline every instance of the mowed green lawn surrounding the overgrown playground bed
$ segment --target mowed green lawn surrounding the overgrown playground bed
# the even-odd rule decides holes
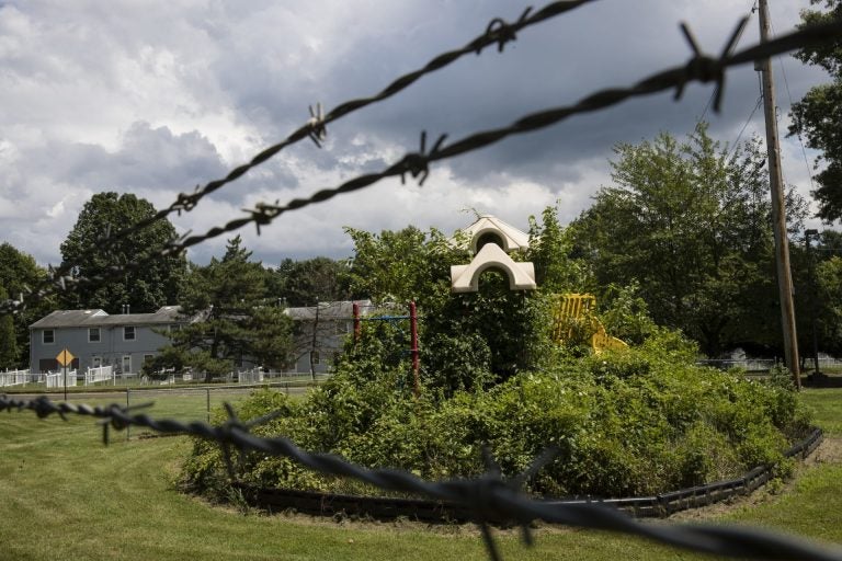
[[[842,390],[806,390],[804,399],[838,449]],[[179,405],[178,399],[161,400],[146,412],[167,416]],[[196,420],[204,420],[201,408],[195,410]],[[209,507],[174,489],[187,438],[126,442],[115,433],[103,446],[101,437],[90,417],[0,414],[0,560],[488,559],[470,525],[335,523]],[[824,461],[799,470],[783,492],[704,513],[703,520],[842,545],[842,460],[829,449]],[[507,560],[710,559],[581,529],[542,527],[532,548],[516,531],[494,534]]]

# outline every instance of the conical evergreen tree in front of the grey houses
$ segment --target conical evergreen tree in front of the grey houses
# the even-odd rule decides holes
[[[283,367],[292,351],[292,320],[266,289],[271,274],[240,237],[228,240],[221,260],[191,270],[182,296],[182,313],[198,318],[172,334],[163,362],[204,369],[208,378],[243,360]],[[173,351],[180,352],[173,353]],[[191,356],[192,355],[192,356]]]

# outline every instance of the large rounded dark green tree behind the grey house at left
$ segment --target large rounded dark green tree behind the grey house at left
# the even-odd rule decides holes
[[[175,238],[175,228],[158,220],[132,236],[103,247],[100,240],[156,214],[148,201],[130,193],[99,193],[84,204],[67,239],[61,243],[62,266],[75,275],[91,277],[105,274],[113,266],[124,266],[155,252]],[[181,282],[186,272],[183,256],[150,261],[143,268],[113,278],[106,284],[80,286],[64,296],[68,308],[102,308],[110,313],[128,305],[133,312],[150,312],[178,302]]]

